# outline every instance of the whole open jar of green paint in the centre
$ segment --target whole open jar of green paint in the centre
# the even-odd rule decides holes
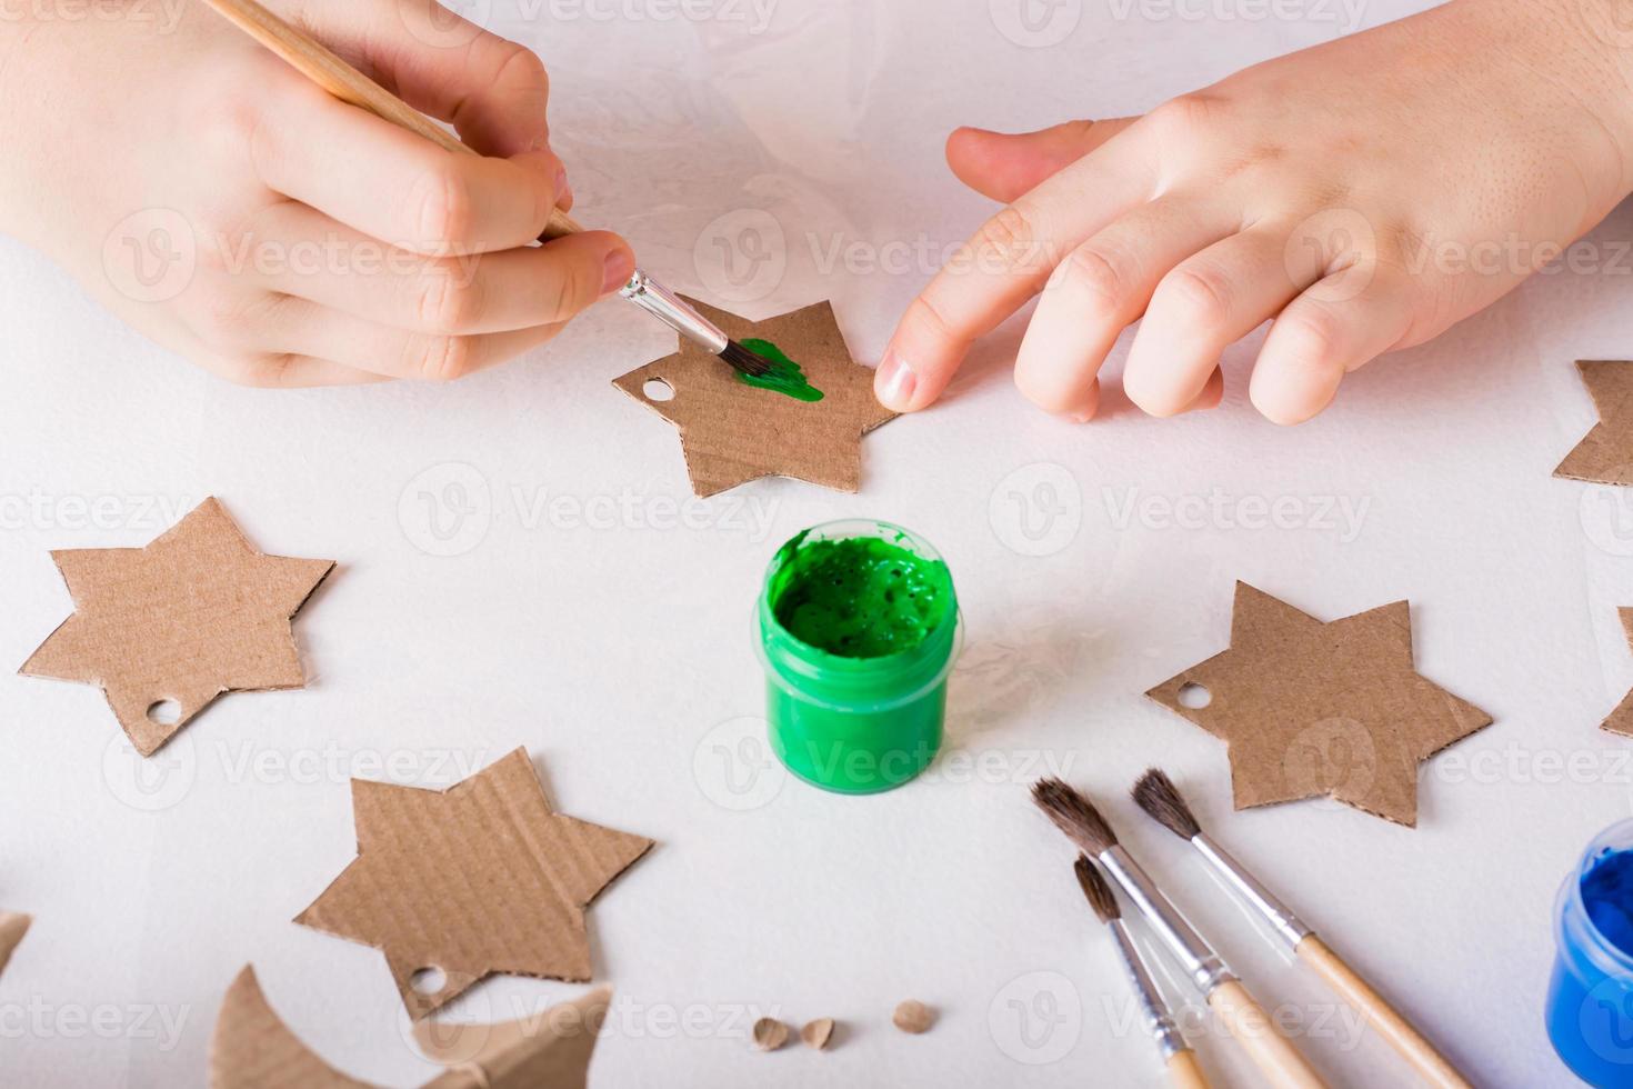
[[[887,522],[807,529],[759,593],[766,720],[777,759],[838,793],[877,793],[941,749],[959,601],[941,555]]]

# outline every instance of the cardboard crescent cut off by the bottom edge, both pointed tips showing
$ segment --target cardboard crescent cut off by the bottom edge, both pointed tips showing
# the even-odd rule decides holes
[[[532,1017],[496,1025],[415,1025],[426,1058],[447,1066],[423,1089],[585,1089],[611,991],[601,988]],[[211,1035],[211,1089],[376,1089],[307,1048],[245,967],[227,988]]]

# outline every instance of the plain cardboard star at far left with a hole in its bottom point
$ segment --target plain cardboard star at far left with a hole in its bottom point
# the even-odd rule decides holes
[[[142,756],[224,692],[304,686],[291,620],[335,570],[263,555],[214,498],[145,549],[51,558],[73,616],[21,673],[100,686]]]

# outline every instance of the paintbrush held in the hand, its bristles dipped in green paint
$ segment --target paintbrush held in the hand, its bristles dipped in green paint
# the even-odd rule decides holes
[[[287,60],[304,77],[327,90],[335,98],[351,103],[359,109],[367,109],[374,116],[408,129],[431,140],[446,152],[456,155],[475,155],[446,129],[433,122],[423,113],[392,95],[389,90],[371,80],[363,72],[335,56],[327,46],[291,26],[255,0],[204,0],[216,8],[227,21],[245,34],[261,42],[274,54]],[[567,212],[555,209],[550,220],[539,235],[539,242],[550,242],[565,235],[576,235],[580,227]],[[732,364],[740,374],[763,377],[774,371],[764,356],[750,351],[743,344],[727,336],[719,325],[689,307],[679,296],[660,284],[647,273],[635,269],[629,282],[619,291],[642,310],[660,318],[681,336],[702,344],[705,349]]]

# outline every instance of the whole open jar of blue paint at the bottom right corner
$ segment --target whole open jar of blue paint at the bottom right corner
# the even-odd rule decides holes
[[[1633,1087],[1633,820],[1600,833],[1560,888],[1548,1038],[1591,1086]],[[1584,891],[1586,890],[1586,891]],[[1618,939],[1618,940],[1613,940]]]

